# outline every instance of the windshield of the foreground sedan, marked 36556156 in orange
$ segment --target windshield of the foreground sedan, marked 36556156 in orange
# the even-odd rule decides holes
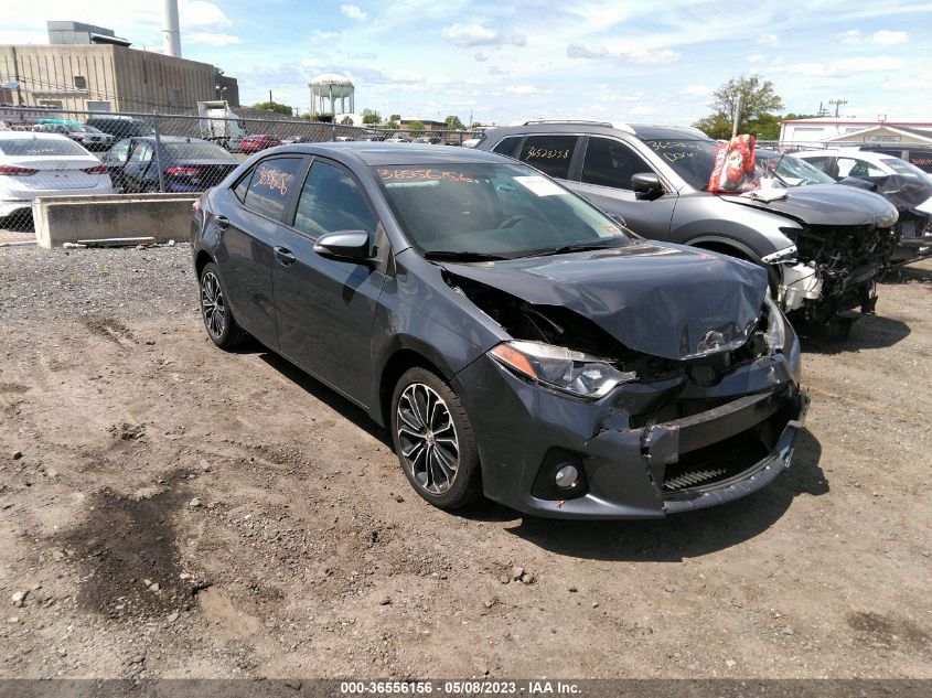
[[[514,258],[619,247],[614,221],[521,164],[374,167],[398,222],[425,256]],[[569,251],[569,250],[566,250]]]

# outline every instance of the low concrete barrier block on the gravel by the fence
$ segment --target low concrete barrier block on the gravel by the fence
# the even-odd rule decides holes
[[[35,239],[42,247],[115,237],[186,240],[191,204],[200,194],[40,196],[32,203]]]

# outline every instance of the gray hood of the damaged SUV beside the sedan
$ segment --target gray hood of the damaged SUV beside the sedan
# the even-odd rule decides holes
[[[897,210],[886,198],[871,192],[837,184],[810,184],[786,191],[784,198],[771,202],[747,196],[722,195],[722,200],[780,213],[806,225],[890,227],[897,222]]]

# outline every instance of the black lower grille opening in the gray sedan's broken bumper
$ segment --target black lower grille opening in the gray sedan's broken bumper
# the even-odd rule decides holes
[[[767,454],[768,448],[758,431],[743,431],[730,439],[683,453],[679,462],[666,466],[663,491],[683,492],[729,480],[759,463]]]

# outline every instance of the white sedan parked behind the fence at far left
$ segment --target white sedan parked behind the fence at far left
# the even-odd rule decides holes
[[[0,218],[28,212],[36,196],[113,193],[107,165],[69,138],[0,132]]]

